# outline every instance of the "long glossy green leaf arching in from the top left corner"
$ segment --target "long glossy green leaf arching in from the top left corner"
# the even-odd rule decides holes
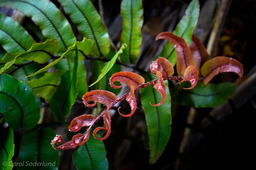
[[[1,0],[0,6],[13,8],[31,17],[42,29],[44,37],[59,42],[58,55],[64,53],[76,41],[68,20],[49,0]]]

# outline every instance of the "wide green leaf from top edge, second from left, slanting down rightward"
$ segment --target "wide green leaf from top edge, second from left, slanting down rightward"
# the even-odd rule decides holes
[[[107,56],[110,51],[108,31],[90,0],[58,0],[78,26],[82,37],[93,41],[91,55]]]

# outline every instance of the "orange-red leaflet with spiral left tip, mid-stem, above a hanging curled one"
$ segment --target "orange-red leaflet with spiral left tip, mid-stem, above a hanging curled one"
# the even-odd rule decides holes
[[[114,85],[114,82],[120,82],[120,86]],[[127,84],[127,86],[134,88],[138,87],[140,84],[143,84],[145,82],[145,79],[140,76],[139,74],[136,74],[134,72],[128,72],[128,71],[120,71],[113,74],[110,78],[110,85],[113,88],[121,88],[123,83]]]

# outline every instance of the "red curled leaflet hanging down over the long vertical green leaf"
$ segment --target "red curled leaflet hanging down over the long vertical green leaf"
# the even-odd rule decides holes
[[[164,103],[165,97],[166,97],[166,87],[164,84],[164,79],[162,77],[162,74],[160,71],[156,72],[156,77],[158,78],[158,82],[154,84],[154,88],[162,95],[162,101],[158,104],[151,104],[151,106],[160,106],[161,104]]]

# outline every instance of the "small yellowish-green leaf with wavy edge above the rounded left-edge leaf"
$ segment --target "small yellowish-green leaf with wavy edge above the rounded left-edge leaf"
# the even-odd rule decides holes
[[[47,72],[43,77],[39,79],[30,80],[27,82],[28,86],[32,89],[32,92],[39,97],[50,101],[52,94],[56,91],[57,86],[60,84],[60,76],[62,72],[56,71],[54,73]]]

